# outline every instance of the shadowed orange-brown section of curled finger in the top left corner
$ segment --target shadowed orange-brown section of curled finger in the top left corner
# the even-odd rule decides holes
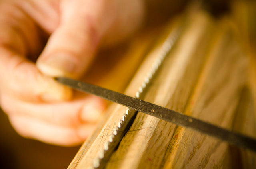
[[[1,2],[0,11],[0,45],[23,57],[38,55],[43,42],[35,22],[14,1]]]

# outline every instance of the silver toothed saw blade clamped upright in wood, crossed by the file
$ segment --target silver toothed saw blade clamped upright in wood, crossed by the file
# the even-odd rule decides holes
[[[176,25],[172,29],[172,31],[169,33],[169,35],[166,37],[162,45],[162,49],[159,53],[159,56],[153,62],[151,69],[148,71],[148,74],[146,75],[146,77],[144,77],[144,81],[142,82],[141,86],[138,88],[138,91],[134,94],[135,98],[140,98],[145,88],[147,87],[148,83],[150,83],[151,79],[154,77],[159,67],[162,65],[162,62],[164,61],[164,59],[166,58],[168,53],[170,53],[170,50],[172,49],[172,46],[176,42],[176,39],[179,37],[182,31],[182,28],[183,28],[182,24]],[[81,88],[83,88],[83,86],[85,85],[85,83],[74,81],[67,78],[56,78],[56,80],[58,80],[60,83],[64,83],[65,85],[71,86],[72,88],[76,88],[78,90],[81,90]],[[81,90],[81,91],[84,91],[84,90]],[[98,89],[94,90],[94,92],[99,92],[99,91],[100,90]],[[89,93],[95,95],[96,93],[94,92],[89,92]],[[98,94],[100,95],[100,92]],[[126,133],[125,131],[127,130],[127,127],[129,126],[130,122],[133,121],[132,119],[135,117],[136,112],[137,111],[132,108],[126,109],[126,111],[124,112],[124,115],[119,120],[118,125],[113,130],[109,140],[104,143],[104,148],[99,151],[98,158],[94,159],[93,168],[99,169],[99,168],[105,167],[106,163],[108,162],[108,159],[112,154],[112,151],[114,151],[114,149],[118,146],[122,137]]]

